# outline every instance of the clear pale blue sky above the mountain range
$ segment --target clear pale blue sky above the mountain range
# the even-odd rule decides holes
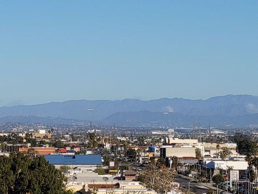
[[[257,0],[0,1],[0,105],[258,95]]]

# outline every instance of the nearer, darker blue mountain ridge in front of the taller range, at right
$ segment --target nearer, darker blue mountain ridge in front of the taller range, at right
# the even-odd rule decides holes
[[[170,126],[170,127],[189,127],[194,123],[200,123],[201,126],[211,124],[217,128],[246,128],[250,125],[258,126],[258,113],[243,116],[201,116],[184,115],[180,113],[160,113],[160,112],[126,112],[114,113],[105,119],[107,124],[115,122],[117,125],[125,126]]]

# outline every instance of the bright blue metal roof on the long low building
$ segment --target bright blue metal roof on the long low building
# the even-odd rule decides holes
[[[46,161],[50,164],[85,164],[101,165],[101,155],[45,155]]]

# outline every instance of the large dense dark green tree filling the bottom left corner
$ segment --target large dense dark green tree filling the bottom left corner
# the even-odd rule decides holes
[[[61,171],[44,157],[22,153],[0,156],[0,193],[2,194],[70,194],[65,190]]]

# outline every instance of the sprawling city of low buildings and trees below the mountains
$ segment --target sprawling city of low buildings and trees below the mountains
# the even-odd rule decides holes
[[[41,173],[62,194],[258,193],[255,128],[1,123],[0,159],[2,194],[47,193]]]

